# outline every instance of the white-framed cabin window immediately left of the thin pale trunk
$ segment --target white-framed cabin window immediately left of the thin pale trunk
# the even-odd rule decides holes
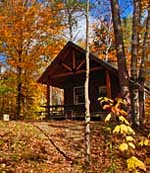
[[[79,105],[79,104],[84,104],[85,103],[85,98],[84,98],[84,87],[74,87],[73,88],[73,94],[74,94],[74,104]]]

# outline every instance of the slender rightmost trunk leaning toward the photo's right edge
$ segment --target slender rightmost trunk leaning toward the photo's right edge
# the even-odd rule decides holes
[[[148,47],[150,45],[150,8],[148,9],[148,17],[146,22],[146,32],[144,34],[143,40],[143,50],[142,50],[142,57],[141,57],[141,64],[139,70],[139,82],[140,82],[140,89],[139,89],[139,118],[140,118],[140,126],[143,127],[143,120],[145,117],[144,112],[144,83],[146,78],[146,67],[145,61],[148,59]]]

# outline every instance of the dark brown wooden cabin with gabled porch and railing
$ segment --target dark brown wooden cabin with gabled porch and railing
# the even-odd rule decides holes
[[[69,41],[39,78],[39,83],[47,85],[45,107],[49,116],[52,116],[54,108],[63,108],[62,113],[66,116],[84,115],[85,54],[84,49]],[[102,112],[97,99],[100,96],[115,98],[120,92],[120,87],[117,69],[91,53],[89,59],[90,112],[95,116]],[[49,86],[64,90],[63,105],[49,105]]]

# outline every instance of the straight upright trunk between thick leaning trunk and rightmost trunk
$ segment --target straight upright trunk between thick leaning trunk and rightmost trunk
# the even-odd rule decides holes
[[[138,111],[138,78],[137,78],[137,57],[139,45],[139,26],[140,26],[140,3],[139,0],[134,0],[134,12],[132,23],[132,50],[131,50],[131,110],[133,125],[140,125]]]

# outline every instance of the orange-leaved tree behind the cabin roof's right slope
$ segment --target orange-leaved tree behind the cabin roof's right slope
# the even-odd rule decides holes
[[[98,19],[93,25],[91,50],[107,62],[116,62],[112,20]]]

